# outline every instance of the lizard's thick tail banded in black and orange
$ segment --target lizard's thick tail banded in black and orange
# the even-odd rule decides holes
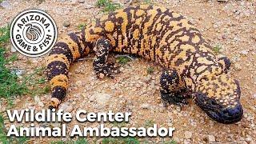
[[[52,91],[50,109],[57,108],[66,96],[71,63],[90,52],[84,29],[60,39],[46,58],[46,75]]]

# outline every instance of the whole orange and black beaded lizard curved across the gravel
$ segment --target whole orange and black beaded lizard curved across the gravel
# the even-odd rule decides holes
[[[47,58],[52,89],[51,108],[65,98],[70,64],[94,52],[98,78],[113,78],[109,52],[138,54],[163,68],[161,97],[182,103],[190,91],[194,102],[214,120],[238,122],[242,118],[240,88],[227,73],[230,60],[217,57],[202,34],[186,18],[160,6],[129,6],[91,22],[83,30],[58,41]]]

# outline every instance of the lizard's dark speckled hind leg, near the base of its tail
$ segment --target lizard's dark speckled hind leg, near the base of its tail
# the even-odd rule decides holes
[[[106,38],[99,38],[94,47],[96,56],[94,58],[94,72],[97,75],[97,78],[103,78],[107,76],[109,78],[114,78],[113,74],[117,71],[117,68],[114,67],[114,63],[108,63],[107,58],[109,55],[112,46],[110,41]]]

